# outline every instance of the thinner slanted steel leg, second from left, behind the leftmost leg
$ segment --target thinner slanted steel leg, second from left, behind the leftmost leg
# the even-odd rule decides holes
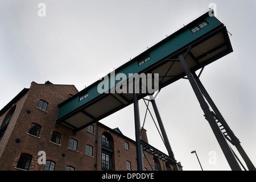
[[[159,124],[160,130],[162,132],[164,143],[166,144],[166,149],[168,151],[168,154],[172,159],[175,160],[174,152],[172,151],[170,142],[169,142],[167,134],[166,134],[166,130],[164,129],[164,125],[163,125],[162,119],[160,117],[158,107],[155,104],[155,100],[150,100],[150,101],[151,101],[153,109],[155,111],[156,119],[158,119],[158,124]],[[177,167],[177,165],[174,165],[174,169],[175,169],[175,171],[179,171],[179,168]]]

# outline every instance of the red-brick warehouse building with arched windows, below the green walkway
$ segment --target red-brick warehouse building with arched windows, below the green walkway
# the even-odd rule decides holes
[[[96,122],[74,132],[56,124],[58,105],[76,93],[74,85],[32,82],[0,110],[0,170],[137,170],[135,141],[118,128]],[[145,170],[173,169],[144,129],[142,140]]]

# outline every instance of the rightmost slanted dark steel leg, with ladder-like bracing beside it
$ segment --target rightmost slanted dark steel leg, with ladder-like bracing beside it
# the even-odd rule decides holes
[[[199,77],[197,77],[196,73],[193,73],[193,76],[197,82],[197,85],[199,86],[201,92],[204,94],[204,97],[206,98],[206,100],[208,101],[209,105],[212,107],[214,113],[221,119],[222,125],[224,126],[224,128],[226,130],[229,130],[229,132],[232,134],[231,136],[229,136],[232,141],[233,141],[233,145],[236,146],[238,152],[240,153],[240,155],[242,156],[243,160],[246,163],[247,168],[250,171],[256,171],[255,166],[253,165],[253,163],[251,162],[249,156],[247,156],[246,152],[243,150],[239,139],[234,135],[233,131],[230,129],[230,127],[228,126],[228,123],[226,123],[224,117],[222,116],[222,114],[220,113],[220,111],[218,110],[217,106],[214,104],[212,98],[210,98],[207,90],[204,88],[204,85],[202,84],[202,82],[200,81]]]

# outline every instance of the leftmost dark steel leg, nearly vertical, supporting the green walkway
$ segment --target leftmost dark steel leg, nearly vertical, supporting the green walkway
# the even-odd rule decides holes
[[[143,171],[143,150],[141,145],[141,123],[139,121],[139,102],[136,90],[136,81],[133,78],[133,104],[134,104],[134,122],[135,122],[135,139],[136,139],[136,154],[137,154],[137,169]]]

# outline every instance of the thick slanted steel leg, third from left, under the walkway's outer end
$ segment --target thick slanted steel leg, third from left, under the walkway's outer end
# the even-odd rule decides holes
[[[197,100],[199,101],[200,106],[201,106],[202,110],[204,111],[205,118],[207,119],[210,127],[212,128],[212,131],[213,131],[218,143],[220,144],[221,150],[224,153],[226,160],[229,163],[230,168],[234,171],[241,171],[241,168],[240,168],[239,164],[237,163],[237,160],[236,160],[232,150],[230,149],[228,143],[226,142],[224,135],[221,133],[220,127],[218,126],[217,122],[215,121],[207,102],[204,100],[204,97],[203,97],[198,85],[196,84],[196,81],[195,81],[194,77],[192,76],[192,73],[191,73],[190,69],[188,68],[188,65],[185,62],[185,59],[182,54],[179,55],[179,60],[183,66],[183,69],[184,69],[187,77],[188,77],[188,80],[192,86],[192,89],[196,94]]]

